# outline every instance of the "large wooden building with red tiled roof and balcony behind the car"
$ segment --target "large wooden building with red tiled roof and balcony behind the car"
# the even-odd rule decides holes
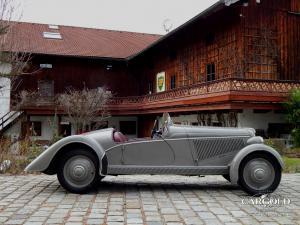
[[[162,112],[176,123],[288,133],[282,102],[300,88],[299,0],[220,0],[162,37],[59,26],[50,30],[62,36],[54,40],[42,36],[47,25],[19,26],[22,37],[38,37],[23,39],[38,72],[24,75],[19,90],[51,97],[69,86],[105,86],[115,93],[108,125],[135,127],[129,135],[148,136]],[[32,121],[54,109],[44,101],[23,110]]]

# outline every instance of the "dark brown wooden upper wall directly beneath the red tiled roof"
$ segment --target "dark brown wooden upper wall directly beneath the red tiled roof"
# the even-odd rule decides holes
[[[49,64],[52,68],[40,68]],[[124,60],[75,58],[62,56],[33,55],[29,73],[23,75],[18,90],[38,91],[40,81],[53,82],[54,95],[66,88],[89,89],[105,87],[115,96],[137,95],[137,81],[128,73]],[[124,85],[126,84],[126,85]]]

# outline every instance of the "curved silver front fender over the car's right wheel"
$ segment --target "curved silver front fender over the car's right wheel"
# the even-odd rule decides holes
[[[250,144],[240,150],[234,157],[234,159],[231,161],[229,165],[229,175],[230,175],[230,180],[232,184],[237,184],[238,183],[238,178],[239,178],[239,166],[241,161],[250,153],[256,152],[256,151],[261,151],[261,152],[267,152],[272,154],[280,164],[281,168],[284,167],[284,162],[280,156],[280,154],[271,148],[270,146],[267,146],[265,144]]]

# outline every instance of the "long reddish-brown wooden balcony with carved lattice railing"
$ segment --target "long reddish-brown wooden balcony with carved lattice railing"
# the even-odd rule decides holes
[[[113,115],[225,109],[281,109],[288,93],[300,82],[224,79],[144,96],[114,97],[108,110]],[[54,98],[39,98],[24,107],[32,114],[53,111]]]

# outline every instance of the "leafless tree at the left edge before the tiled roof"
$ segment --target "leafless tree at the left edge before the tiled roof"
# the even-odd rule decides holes
[[[27,68],[30,54],[24,51],[24,43],[20,42],[20,33],[15,28],[16,22],[21,18],[17,0],[0,0],[0,79],[9,79],[10,87],[17,88],[17,78]],[[22,51],[23,50],[23,51]]]

